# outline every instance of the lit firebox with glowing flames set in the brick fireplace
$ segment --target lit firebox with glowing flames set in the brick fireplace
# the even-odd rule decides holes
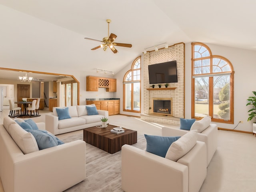
[[[153,112],[172,115],[172,99],[153,99]]]

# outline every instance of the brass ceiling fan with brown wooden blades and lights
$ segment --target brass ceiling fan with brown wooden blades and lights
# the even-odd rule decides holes
[[[93,40],[93,41],[102,42],[102,44],[100,44],[97,47],[92,48],[91,50],[96,50],[98,48],[103,48],[103,50],[106,51],[107,48],[109,47],[112,50],[113,53],[117,53],[118,50],[116,50],[116,48],[114,46],[132,47],[132,44],[116,43],[116,42],[114,42],[114,40],[116,39],[117,36],[114,33],[111,33],[109,35],[109,24],[110,24],[111,20],[107,19],[106,22],[108,23],[108,37],[104,37],[102,39],[102,41],[96,40],[96,39],[91,39],[91,38],[85,38],[87,40]]]

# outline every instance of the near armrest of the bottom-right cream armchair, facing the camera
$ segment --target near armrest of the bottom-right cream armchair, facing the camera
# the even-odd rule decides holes
[[[188,192],[188,167],[125,144],[122,146],[122,190]]]

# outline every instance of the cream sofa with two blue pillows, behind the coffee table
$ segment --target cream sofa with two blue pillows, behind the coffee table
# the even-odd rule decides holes
[[[108,118],[108,111],[106,110],[97,110],[98,115],[87,115],[86,106],[95,106],[95,104],[69,106],[68,110],[71,118],[62,120],[58,120],[56,108],[64,107],[53,107],[53,113],[45,115],[46,130],[58,135],[101,125],[100,118]]]

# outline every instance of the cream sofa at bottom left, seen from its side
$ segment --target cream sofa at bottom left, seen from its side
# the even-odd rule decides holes
[[[86,178],[86,143],[76,140],[24,154],[12,139],[19,126],[9,117],[0,124],[0,177],[4,192],[61,192]],[[44,123],[37,123],[44,129]],[[10,133],[9,133],[10,132]]]

